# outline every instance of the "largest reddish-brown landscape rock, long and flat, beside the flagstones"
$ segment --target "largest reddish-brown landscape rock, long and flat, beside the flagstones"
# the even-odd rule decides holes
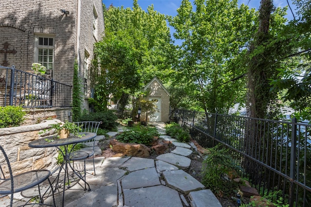
[[[151,152],[150,148],[144,144],[121,143],[117,140],[110,140],[110,144],[112,145],[112,151],[126,156],[148,158]]]

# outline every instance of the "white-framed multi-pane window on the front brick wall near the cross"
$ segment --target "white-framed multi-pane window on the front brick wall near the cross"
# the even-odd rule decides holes
[[[53,44],[52,45],[39,45],[39,38],[43,38],[43,42],[45,38],[49,38],[49,41],[50,39],[52,39]],[[44,58],[42,58],[42,61],[39,61],[39,49],[49,49],[49,50],[52,49],[52,61],[50,60],[51,55],[49,54],[47,57],[47,62],[44,61]],[[54,53],[55,53],[55,35],[35,34],[34,63],[40,63],[46,66],[48,70],[52,71],[54,69]],[[52,64],[52,67],[50,66],[51,64]]]

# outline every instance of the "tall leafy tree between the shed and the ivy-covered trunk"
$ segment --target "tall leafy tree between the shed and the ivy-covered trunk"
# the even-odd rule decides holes
[[[255,11],[237,0],[182,0],[169,22],[183,40],[172,85],[208,112],[227,112],[245,94],[242,57],[254,31]],[[182,90],[181,90],[182,89]],[[244,92],[244,93],[243,93]],[[178,95],[178,94],[177,94]]]

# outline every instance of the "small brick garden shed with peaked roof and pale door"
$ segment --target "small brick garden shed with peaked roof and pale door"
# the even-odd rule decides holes
[[[148,115],[147,122],[168,122],[170,117],[170,93],[163,86],[161,81],[154,77],[144,88],[149,90],[148,100],[155,101],[156,112],[153,115]],[[144,116],[141,116],[143,118]]]

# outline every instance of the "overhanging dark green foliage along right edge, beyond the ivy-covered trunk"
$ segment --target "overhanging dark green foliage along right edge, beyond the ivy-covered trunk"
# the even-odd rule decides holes
[[[284,68],[278,68],[278,79],[270,79],[270,92],[284,91],[283,101],[296,110],[300,119],[311,119],[311,0],[294,0],[299,18],[284,27],[276,41],[287,40],[285,47],[292,48],[284,57]],[[280,40],[281,39],[281,40]]]

